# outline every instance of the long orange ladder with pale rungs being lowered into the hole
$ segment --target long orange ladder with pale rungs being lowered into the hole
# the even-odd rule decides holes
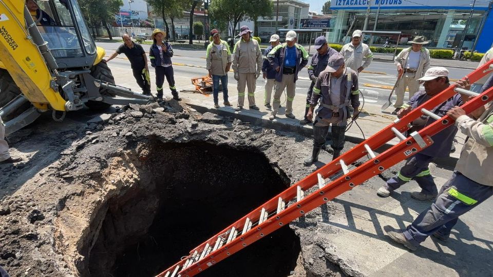
[[[467,77],[469,77],[470,83],[474,83],[490,70],[493,70],[493,60],[472,71]],[[353,187],[362,184],[371,177],[431,145],[433,141],[430,136],[452,125],[453,120],[448,115],[439,117],[430,112],[430,110],[457,92],[476,96],[461,107],[466,113],[484,106],[493,99],[493,88],[478,94],[451,85],[403,118],[395,120],[393,124],[339,156],[336,160],[319,168],[305,177],[305,179],[279,193],[268,202],[197,246],[190,251],[188,256],[182,258],[181,261],[169,267],[157,277],[194,276],[260,240],[263,236],[289,224],[312,209],[327,203],[339,194],[351,190]],[[437,121],[420,132],[413,132],[409,137],[405,137],[402,132],[407,131],[409,124],[423,114]],[[372,149],[383,146],[394,137],[399,138],[401,142],[381,154],[376,155],[373,153]],[[371,159],[349,171],[348,165],[366,155],[369,155]],[[341,170],[343,174],[337,179],[325,179]],[[317,187],[308,192],[314,186]]]

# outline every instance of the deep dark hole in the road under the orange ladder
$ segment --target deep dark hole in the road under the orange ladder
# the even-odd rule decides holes
[[[82,275],[155,276],[289,185],[255,149],[157,141],[137,148],[146,153],[138,184],[95,216],[100,231]],[[288,276],[299,252],[285,226],[199,275]]]

